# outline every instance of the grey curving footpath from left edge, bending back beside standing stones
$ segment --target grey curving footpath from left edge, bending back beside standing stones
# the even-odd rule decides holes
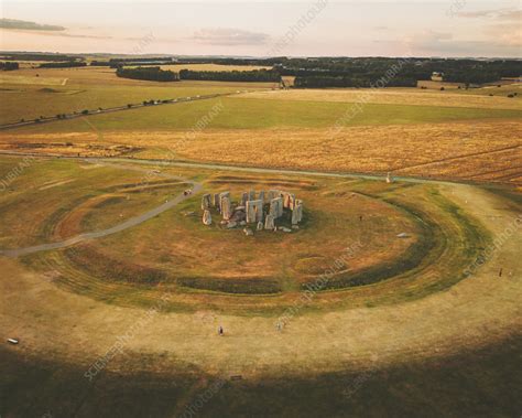
[[[137,167],[128,167],[128,165],[122,165],[122,164],[112,164],[112,163],[106,163],[106,162],[100,162],[97,161],[97,163],[101,163],[104,165],[110,165],[110,167],[116,167],[118,169],[124,169],[124,170],[131,170],[131,171],[140,171],[140,172],[148,172],[148,170],[140,169]],[[171,180],[178,180],[178,181],[184,181],[193,185],[192,190],[193,193],[197,193],[202,190],[203,185],[200,183],[180,178],[176,175],[170,175],[166,173],[157,173],[155,174],[157,176],[162,176],[165,179],[171,179]],[[154,207],[151,211],[148,211],[141,215],[131,217],[121,224],[115,225],[110,228],[107,229],[101,229],[101,231],[96,231],[93,233],[86,233],[86,234],[80,234],[75,237],[58,242],[58,243],[50,243],[50,244],[41,244],[41,245],[35,245],[32,247],[25,247],[25,248],[15,248],[15,249],[0,249],[0,255],[7,256],[7,257],[20,257],[20,256],[25,256],[28,254],[33,254],[33,253],[40,253],[40,251],[47,251],[51,249],[57,249],[57,248],[65,248],[69,247],[72,245],[83,243],[88,239],[95,239],[95,238],[101,238],[108,235],[117,234],[121,231],[131,228],[133,226],[140,225],[145,221],[149,221],[153,218],[154,216],[157,216],[159,214],[168,211],[170,208],[174,207],[177,205],[180,202],[183,202],[187,199],[189,199],[191,195],[184,195],[184,193],[181,193],[180,195],[175,196],[173,200],[170,200],[162,205]]]

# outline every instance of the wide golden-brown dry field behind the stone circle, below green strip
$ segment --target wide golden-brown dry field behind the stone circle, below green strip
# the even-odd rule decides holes
[[[139,158],[268,168],[393,172],[521,184],[522,121],[476,121],[328,129],[206,130],[194,140],[184,131],[0,135],[0,149],[113,156],[127,144],[142,149]],[[66,142],[74,146],[65,147]],[[95,147],[96,146],[96,147]],[[31,149],[31,148],[29,148]],[[260,152],[260,150],[262,150]]]

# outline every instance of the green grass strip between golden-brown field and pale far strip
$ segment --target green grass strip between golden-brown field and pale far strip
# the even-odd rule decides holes
[[[206,125],[206,129],[328,128],[337,121],[345,126],[376,126],[522,117],[520,110],[368,104],[356,117],[347,118],[351,104],[227,97],[95,115],[89,117],[89,121],[101,131],[192,129],[219,100],[224,109]],[[20,128],[13,132],[89,130],[91,127],[84,120],[73,119]]]

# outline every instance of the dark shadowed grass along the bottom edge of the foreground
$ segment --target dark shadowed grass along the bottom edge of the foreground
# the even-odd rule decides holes
[[[388,368],[255,381],[219,381],[186,366],[170,374],[130,373],[132,361],[116,360],[93,385],[74,364],[0,353],[0,412],[7,416],[127,417],[183,414],[206,389],[217,387],[200,417],[449,415],[513,417],[522,408],[513,387],[522,385],[520,336],[445,360],[412,361]],[[142,364],[151,358],[139,357]],[[36,384],[37,383],[37,384]],[[110,396],[107,396],[110,394]],[[30,400],[29,400],[30,399]],[[198,404],[199,405],[199,404]]]

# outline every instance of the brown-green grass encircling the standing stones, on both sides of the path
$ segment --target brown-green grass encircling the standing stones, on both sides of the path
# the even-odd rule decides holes
[[[17,159],[1,161],[0,174],[6,178]],[[216,213],[215,225],[203,226],[200,195],[195,195],[174,212],[129,231],[28,256],[25,262],[54,277],[64,289],[122,306],[150,306],[166,289],[173,292],[170,309],[176,311],[192,310],[202,300],[230,310],[233,304],[227,294],[278,293],[269,299],[243,298],[238,307],[243,314],[249,309],[267,314],[293,303],[298,291],[350,245],[357,244],[356,256],[350,256],[348,267],[337,271],[325,290],[352,289],[350,306],[365,307],[398,303],[453,286],[461,275],[449,272],[463,269],[459,266],[469,262],[487,240],[480,226],[428,185],[210,175],[189,170],[184,174],[198,174],[206,191],[229,190],[235,199],[250,189],[291,190],[305,202],[305,221],[293,234],[262,232],[252,239],[239,229],[221,228]],[[2,225],[1,246],[59,242],[100,231],[160,205],[184,187],[166,180],[143,183],[139,173],[116,168],[35,160],[1,196],[2,217],[8,221]],[[399,233],[410,237],[400,239]],[[312,249],[311,243],[319,245],[320,251]],[[447,279],[439,280],[442,275]],[[369,283],[379,287],[361,287]],[[186,298],[193,292],[196,304]],[[329,309],[345,306],[345,296],[333,292],[324,298]]]

